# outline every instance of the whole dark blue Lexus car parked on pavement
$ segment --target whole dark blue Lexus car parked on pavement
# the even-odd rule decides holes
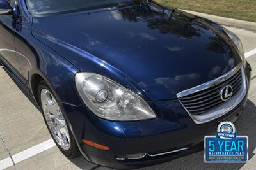
[[[63,154],[118,169],[202,150],[251,76],[235,34],[140,0],[0,0],[0,61]]]

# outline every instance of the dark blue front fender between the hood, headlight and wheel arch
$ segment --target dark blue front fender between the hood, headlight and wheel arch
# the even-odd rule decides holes
[[[33,66],[28,73],[29,87],[32,92],[35,90],[33,89],[34,78],[39,75],[49,85],[54,95],[59,97],[61,103],[80,106],[82,103],[74,83],[74,76],[79,69],[37,39],[34,38],[31,44],[37,53],[36,66]]]

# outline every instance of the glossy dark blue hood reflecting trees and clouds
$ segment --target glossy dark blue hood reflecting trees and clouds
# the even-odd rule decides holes
[[[220,25],[151,3],[34,17],[32,32],[81,71],[125,77],[151,101],[173,99],[241,62]]]

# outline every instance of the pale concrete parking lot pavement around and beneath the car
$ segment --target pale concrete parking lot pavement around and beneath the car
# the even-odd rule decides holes
[[[243,41],[252,66],[248,103],[235,124],[240,135],[249,136],[250,160],[246,164],[205,164],[202,151],[142,169],[256,169],[256,32],[229,29]],[[1,66],[0,132],[0,169],[108,169],[83,157],[67,159],[52,143],[42,114]]]

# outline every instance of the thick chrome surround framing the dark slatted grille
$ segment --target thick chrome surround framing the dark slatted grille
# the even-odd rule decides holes
[[[221,104],[219,107],[215,108],[214,110],[208,111],[207,113],[204,113],[202,115],[193,115],[186,109],[186,107],[179,100],[180,104],[182,104],[183,108],[188,112],[189,116],[193,119],[193,121],[196,124],[204,124],[206,122],[210,122],[216,118],[219,118],[219,117],[227,114],[229,111],[233,110],[239,103],[241,103],[241,101],[243,101],[243,99],[247,93],[247,80],[246,80],[246,74],[244,71],[244,67],[241,66],[241,64],[239,64],[239,66],[240,67],[238,67],[238,68],[241,69],[242,80],[243,80],[241,89],[234,96],[232,96],[230,98],[230,100]],[[231,72],[228,72],[228,73],[230,74],[230,76],[232,76],[234,73],[236,73],[237,70],[238,69],[236,67],[235,69],[233,69]],[[225,76],[221,76],[223,79],[218,78],[218,81],[220,81],[220,80],[225,81],[225,80],[227,80],[227,78],[230,78],[230,76],[225,74]],[[213,81],[211,81],[211,83],[212,82]],[[209,85],[209,83],[207,83],[207,85]],[[204,86],[201,86],[201,87],[204,87]],[[197,87],[196,87],[196,89],[198,90]]]

